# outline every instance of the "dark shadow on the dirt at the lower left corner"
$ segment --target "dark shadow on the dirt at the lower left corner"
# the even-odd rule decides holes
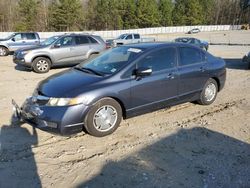
[[[32,152],[36,129],[30,132],[14,117],[0,128],[0,187],[42,187]]]

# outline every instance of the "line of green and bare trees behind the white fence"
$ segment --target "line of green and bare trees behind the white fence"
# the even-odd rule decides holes
[[[0,0],[0,31],[116,30],[250,22],[248,0]]]

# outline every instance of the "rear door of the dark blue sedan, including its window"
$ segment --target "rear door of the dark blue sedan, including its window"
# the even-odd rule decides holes
[[[179,47],[179,87],[180,97],[192,97],[202,90],[208,80],[208,65],[202,50],[195,47]]]

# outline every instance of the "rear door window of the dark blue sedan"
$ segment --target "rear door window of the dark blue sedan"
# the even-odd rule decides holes
[[[202,62],[202,56],[199,50],[195,48],[181,47],[180,49],[180,65],[192,65]]]

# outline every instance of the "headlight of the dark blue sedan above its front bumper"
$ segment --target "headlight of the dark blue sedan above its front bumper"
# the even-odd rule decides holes
[[[76,98],[50,98],[47,105],[48,106],[73,106],[77,104],[86,104],[88,98],[86,97],[76,97]]]

